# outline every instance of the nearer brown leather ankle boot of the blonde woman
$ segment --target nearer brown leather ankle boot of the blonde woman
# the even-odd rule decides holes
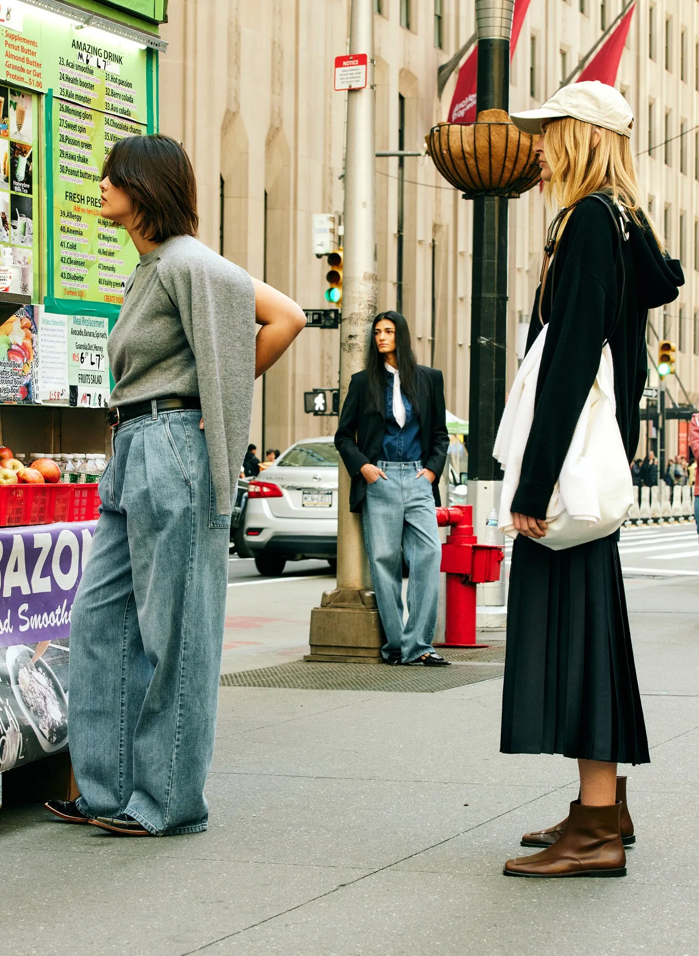
[[[621,810],[621,803],[584,807],[574,800],[556,843],[532,857],[509,859],[502,872],[506,877],[625,877]]]

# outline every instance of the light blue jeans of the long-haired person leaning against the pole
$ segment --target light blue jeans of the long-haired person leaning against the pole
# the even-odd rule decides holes
[[[386,478],[366,486],[361,523],[386,642],[384,660],[416,661],[432,650],[439,610],[442,543],[432,486],[420,462],[377,462]],[[403,620],[401,546],[408,567]]]

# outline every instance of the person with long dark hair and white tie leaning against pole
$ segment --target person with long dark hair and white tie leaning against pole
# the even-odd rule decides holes
[[[437,369],[417,364],[400,313],[374,319],[366,368],[352,376],[335,444],[352,478],[350,509],[361,512],[385,633],[383,660],[447,664],[432,649],[442,554],[434,509],[448,451],[444,380]]]

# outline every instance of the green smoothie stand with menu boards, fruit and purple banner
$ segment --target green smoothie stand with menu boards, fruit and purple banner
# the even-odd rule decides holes
[[[158,130],[165,18],[166,0],[0,0],[0,445],[73,471],[0,470],[0,802],[3,774],[9,789],[68,747],[71,608],[98,508],[99,467],[77,463],[110,454],[106,339],[138,262],[100,216],[100,172],[114,142]]]

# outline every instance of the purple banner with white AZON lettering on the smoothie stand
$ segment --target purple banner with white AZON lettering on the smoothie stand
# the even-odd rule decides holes
[[[0,529],[0,647],[67,638],[97,521]]]

